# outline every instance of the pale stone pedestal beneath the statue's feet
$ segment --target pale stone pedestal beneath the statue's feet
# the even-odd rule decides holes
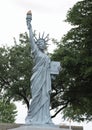
[[[32,125],[22,125],[18,128],[8,129],[8,130],[69,130],[67,128],[59,128],[59,126],[32,126]]]

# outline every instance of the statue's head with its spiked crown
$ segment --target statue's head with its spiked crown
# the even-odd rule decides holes
[[[39,33],[39,38],[36,38],[35,36],[35,43],[37,44],[38,48],[42,51],[46,49],[46,45],[48,41],[49,41],[49,35],[44,37],[44,33],[42,34],[42,36],[40,36]]]

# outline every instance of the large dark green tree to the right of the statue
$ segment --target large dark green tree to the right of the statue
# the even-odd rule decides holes
[[[58,111],[77,121],[92,120],[92,1],[83,0],[67,13],[73,28],[62,38],[52,55],[61,61],[62,72],[54,87],[58,90]],[[59,94],[59,91],[61,93]],[[63,106],[61,108],[61,105]]]

